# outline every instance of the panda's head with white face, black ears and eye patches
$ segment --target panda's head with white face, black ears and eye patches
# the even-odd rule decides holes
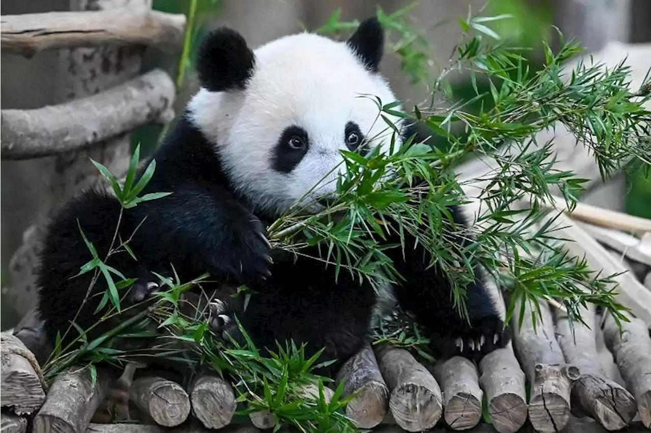
[[[344,42],[300,33],[255,50],[235,31],[217,29],[199,48],[202,88],[189,116],[230,183],[258,209],[282,213],[308,192],[310,202],[335,191],[345,170],[340,150],[389,146],[393,129],[376,99],[396,100],[378,74],[383,45],[375,18]]]

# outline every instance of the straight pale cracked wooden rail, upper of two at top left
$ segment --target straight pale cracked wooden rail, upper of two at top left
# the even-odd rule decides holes
[[[0,18],[0,51],[28,58],[46,49],[104,44],[137,44],[172,51],[181,46],[185,26],[184,14],[133,7],[4,15]]]

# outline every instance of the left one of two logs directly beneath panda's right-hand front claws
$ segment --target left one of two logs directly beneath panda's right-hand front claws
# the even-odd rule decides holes
[[[482,418],[484,392],[475,365],[462,356],[439,361],[434,376],[443,389],[443,419],[453,430],[467,430]]]

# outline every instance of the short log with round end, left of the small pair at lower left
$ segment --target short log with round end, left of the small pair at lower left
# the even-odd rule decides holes
[[[180,425],[190,414],[190,398],[176,382],[159,376],[133,381],[130,397],[141,412],[165,427]]]

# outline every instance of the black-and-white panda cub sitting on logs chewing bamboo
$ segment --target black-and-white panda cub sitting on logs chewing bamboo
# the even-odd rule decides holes
[[[389,144],[392,129],[378,116],[376,102],[360,97],[396,100],[378,73],[383,45],[375,18],[345,42],[301,33],[252,50],[230,29],[204,38],[196,62],[201,90],[154,153],[156,172],[141,193],[173,194],[124,211],[120,237],[132,237],[138,260],[124,253],[107,263],[138,278],[128,302],[156,291],[152,272],[170,275],[173,265],[184,282],[208,272],[213,280],[255,291],[245,310],[238,297],[217,296],[210,308],[216,331],[232,326],[236,313],[258,347],[275,349],[275,341],[294,339],[311,353],[325,347],[323,358],[338,364],[368,341],[381,300],[373,287],[348,272],[335,283],[332,267],[272,251],[265,227],[306,194],[335,191],[333,169],[344,167],[340,150],[364,153],[378,137]],[[415,133],[402,119],[387,117],[404,129],[398,144]],[[309,193],[319,181],[322,186]],[[38,274],[39,310],[51,339],[68,328],[90,283],[91,272],[72,278],[91,258],[77,220],[105,257],[119,211],[115,198],[89,190],[51,222]],[[457,224],[467,224],[461,209],[451,211]],[[395,235],[388,242],[400,243]],[[415,239],[387,254],[406,279],[395,287],[396,300],[415,315],[437,353],[478,360],[506,344],[495,289],[485,278],[467,287],[467,322],[452,307],[447,278],[427,267]],[[100,278],[94,292],[104,290]],[[98,298],[79,312],[82,328],[96,321]]]

